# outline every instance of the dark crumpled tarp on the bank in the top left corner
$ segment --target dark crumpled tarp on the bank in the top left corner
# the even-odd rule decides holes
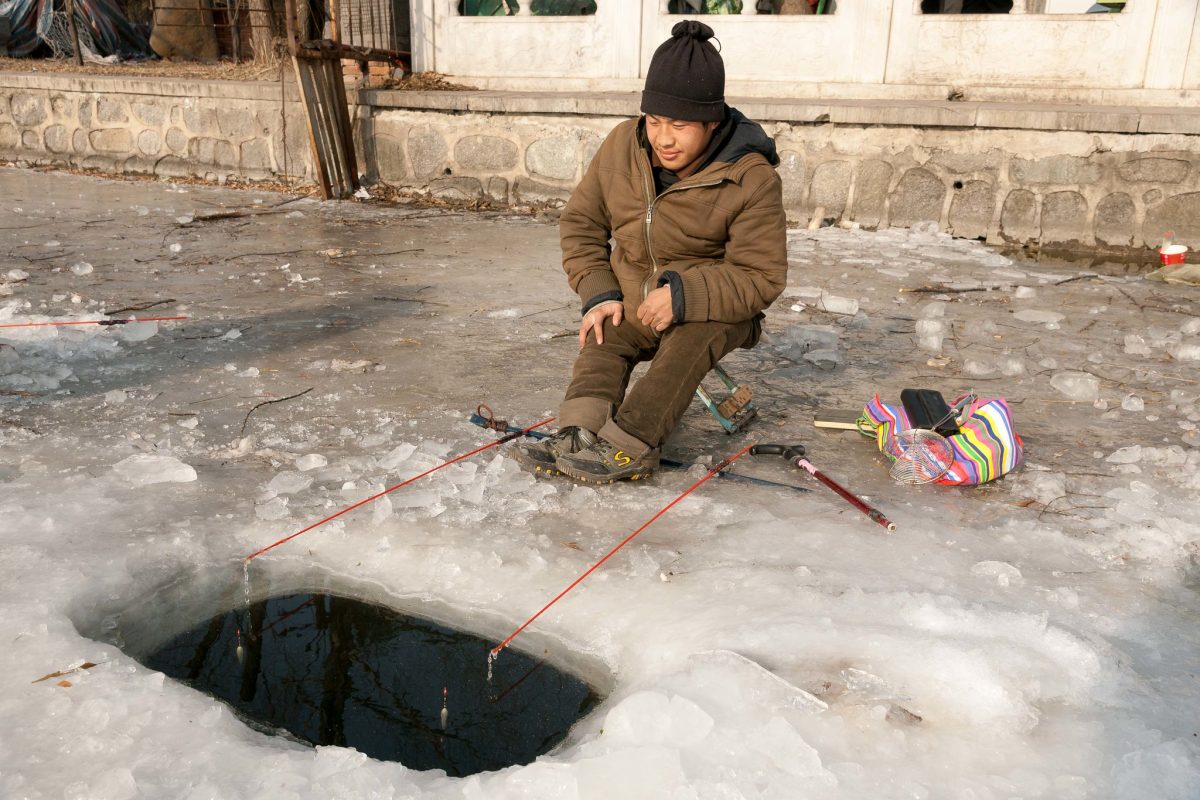
[[[66,0],[0,0],[0,17],[7,17],[12,28],[8,55],[37,55],[43,46],[55,54],[64,48],[70,53],[65,7]],[[84,58],[150,56],[145,34],[130,22],[118,0],[74,0],[74,12]]]

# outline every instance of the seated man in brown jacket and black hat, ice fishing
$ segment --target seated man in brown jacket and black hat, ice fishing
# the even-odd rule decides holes
[[[695,20],[672,29],[647,72],[644,116],[608,134],[563,210],[583,321],[562,428],[516,451],[536,473],[649,475],[701,379],[754,347],[787,282],[775,144],[725,104],[712,37]]]

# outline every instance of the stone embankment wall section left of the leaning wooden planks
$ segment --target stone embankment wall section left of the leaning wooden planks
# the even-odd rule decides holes
[[[277,83],[4,73],[0,157],[217,181],[305,178],[308,132],[294,101]]]

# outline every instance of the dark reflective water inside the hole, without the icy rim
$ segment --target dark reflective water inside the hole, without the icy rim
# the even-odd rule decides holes
[[[493,645],[358,600],[299,594],[220,614],[143,662],[259,729],[464,776],[532,762],[599,700],[578,678],[512,650],[488,684]]]

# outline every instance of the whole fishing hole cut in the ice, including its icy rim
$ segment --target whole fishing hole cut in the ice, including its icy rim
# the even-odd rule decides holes
[[[503,634],[461,630],[436,602],[334,578],[256,577],[250,589],[241,578],[239,564],[124,607],[80,603],[73,618],[84,636],[222,700],[264,735],[456,777],[553,751],[607,691],[596,664],[533,638],[505,648],[488,679]]]

